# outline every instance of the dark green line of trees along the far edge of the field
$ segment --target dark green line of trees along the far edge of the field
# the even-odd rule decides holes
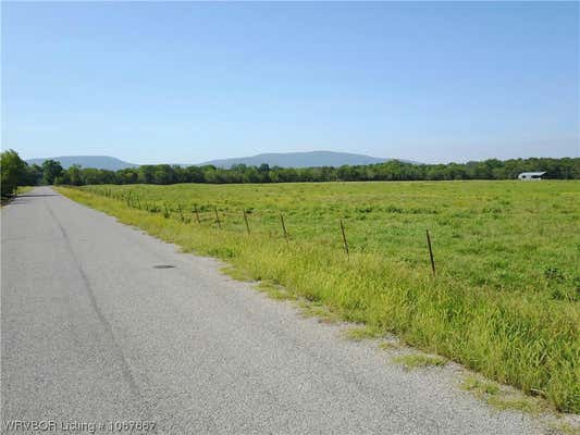
[[[415,164],[391,160],[378,164],[338,167],[270,167],[266,163],[259,166],[237,164],[231,169],[213,165],[146,164],[119,171],[79,165],[65,170],[55,160],[46,160],[42,165],[29,165],[13,150],[2,152],[1,159],[2,196],[12,194],[18,185],[514,179],[519,173],[527,171],[546,171],[547,178],[580,179],[580,158],[530,158],[505,161],[489,159],[480,162],[446,164]]]

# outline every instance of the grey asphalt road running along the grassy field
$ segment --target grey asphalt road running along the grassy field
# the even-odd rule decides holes
[[[406,372],[51,188],[1,219],[3,433],[30,433],[7,430],[14,419],[66,433],[123,421],[158,434],[543,433],[460,390],[453,370]]]

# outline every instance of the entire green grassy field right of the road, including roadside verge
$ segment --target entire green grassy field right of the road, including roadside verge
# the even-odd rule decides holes
[[[580,182],[60,190],[186,251],[224,259],[239,275],[322,302],[377,334],[394,332],[545,396],[558,410],[580,412]]]

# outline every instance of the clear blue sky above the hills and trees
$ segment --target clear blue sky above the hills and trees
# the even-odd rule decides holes
[[[579,157],[579,3],[2,3],[2,148]]]

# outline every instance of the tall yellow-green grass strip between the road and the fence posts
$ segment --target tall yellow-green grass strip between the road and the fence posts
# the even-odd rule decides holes
[[[433,279],[428,269],[385,261],[381,253],[353,251],[347,258],[324,244],[287,245],[272,234],[220,231],[162,209],[150,212],[79,189],[59,191],[184,251],[225,260],[244,276],[283,286],[341,319],[395,333],[526,393],[540,390],[558,410],[580,412],[578,302],[473,287],[454,274]]]

